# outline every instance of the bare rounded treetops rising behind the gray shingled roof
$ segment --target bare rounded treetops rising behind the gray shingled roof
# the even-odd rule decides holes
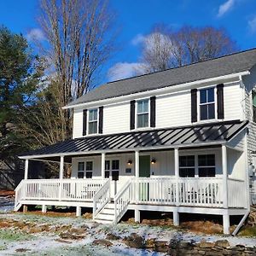
[[[143,73],[209,60],[236,50],[224,28],[183,26],[176,32],[156,27],[145,37],[142,48]]]

